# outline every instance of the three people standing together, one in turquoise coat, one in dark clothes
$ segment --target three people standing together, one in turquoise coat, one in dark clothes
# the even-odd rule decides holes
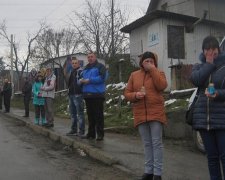
[[[55,97],[55,83],[56,76],[50,66],[46,68],[44,74],[41,71],[37,72],[33,84],[31,84],[27,77],[25,78],[22,88],[25,107],[24,117],[29,117],[29,103],[33,94],[34,123],[36,125],[45,127],[54,126],[53,99]]]

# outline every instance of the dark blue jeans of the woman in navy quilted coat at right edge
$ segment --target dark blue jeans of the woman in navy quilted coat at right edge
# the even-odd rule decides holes
[[[220,162],[225,175],[225,130],[200,130],[208,159],[211,180],[222,180]]]

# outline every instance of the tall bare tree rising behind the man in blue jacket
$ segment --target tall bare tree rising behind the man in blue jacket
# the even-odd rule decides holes
[[[80,35],[85,51],[95,50],[98,57],[105,59],[112,57],[114,53],[121,53],[128,43],[128,38],[120,32],[120,29],[127,23],[125,14],[119,6],[112,7],[110,0],[106,2],[106,5],[102,5],[102,1],[99,0],[94,2],[86,0],[85,2],[87,11],[74,12],[76,17],[74,19],[78,19],[78,22],[70,19]]]

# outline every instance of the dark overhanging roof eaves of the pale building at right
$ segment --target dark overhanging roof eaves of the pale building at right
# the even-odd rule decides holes
[[[151,1],[151,2],[154,2],[154,1]],[[151,5],[151,3],[150,3],[150,5]],[[150,5],[149,5],[149,8],[151,8]],[[168,11],[155,10],[155,11],[149,12],[148,14],[142,16],[141,18],[137,19],[136,21],[124,26],[123,28],[120,29],[120,31],[124,32],[124,33],[130,33],[132,30],[137,29],[137,28],[139,28],[155,19],[159,19],[159,18],[183,21],[187,26],[190,26],[194,22],[199,20],[199,18],[193,17],[193,16],[187,16],[187,15],[177,14],[177,13],[168,12]],[[218,21],[211,21],[211,20],[204,19],[201,21],[201,23],[220,26],[220,27],[225,28],[225,24],[218,22]]]

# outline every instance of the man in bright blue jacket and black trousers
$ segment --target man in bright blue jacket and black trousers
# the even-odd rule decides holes
[[[83,70],[83,96],[86,103],[88,115],[87,139],[102,141],[104,138],[104,100],[105,80],[107,77],[106,68],[97,61],[93,52],[88,53],[88,64]],[[96,137],[97,134],[97,137]]]

